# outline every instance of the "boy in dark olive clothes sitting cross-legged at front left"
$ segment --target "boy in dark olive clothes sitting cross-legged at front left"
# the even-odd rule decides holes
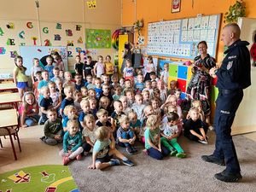
[[[61,119],[57,118],[57,110],[49,108],[47,110],[48,120],[44,124],[44,136],[40,139],[49,145],[56,145],[62,142],[63,129]]]

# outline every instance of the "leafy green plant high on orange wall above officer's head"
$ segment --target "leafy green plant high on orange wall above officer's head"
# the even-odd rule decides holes
[[[224,23],[228,22],[237,22],[238,17],[243,17],[245,15],[245,3],[240,0],[230,6],[229,12],[226,12],[224,15]]]

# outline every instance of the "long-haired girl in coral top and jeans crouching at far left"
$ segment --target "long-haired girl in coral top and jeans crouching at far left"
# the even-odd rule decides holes
[[[35,95],[32,92],[26,92],[23,96],[22,103],[19,109],[20,125],[25,128],[34,125],[32,119],[37,121],[40,119],[39,106]]]

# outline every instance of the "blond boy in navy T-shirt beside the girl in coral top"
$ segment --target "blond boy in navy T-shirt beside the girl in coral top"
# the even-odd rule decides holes
[[[39,125],[44,125],[44,122],[48,119],[46,116],[48,108],[53,108],[52,99],[49,97],[49,87],[44,86],[41,88],[41,93],[44,96],[43,99],[40,102],[40,108],[42,112],[42,117],[39,119]]]

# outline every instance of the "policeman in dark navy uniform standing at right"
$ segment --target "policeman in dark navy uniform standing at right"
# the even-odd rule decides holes
[[[202,160],[224,166],[223,172],[215,174],[218,180],[233,182],[241,179],[240,166],[236,156],[236,148],[231,137],[236,110],[243,97],[243,89],[251,85],[250,55],[247,41],[241,41],[240,28],[230,23],[223,28],[221,40],[229,46],[221,67],[212,68],[210,75],[218,77],[218,98],[214,116],[216,133],[215,150],[212,155],[201,156]]]

